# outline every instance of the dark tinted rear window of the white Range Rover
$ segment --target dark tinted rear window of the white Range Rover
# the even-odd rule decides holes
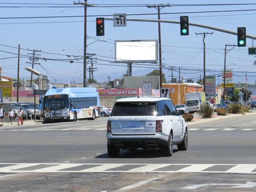
[[[156,103],[153,102],[117,102],[112,116],[152,116],[155,111]]]

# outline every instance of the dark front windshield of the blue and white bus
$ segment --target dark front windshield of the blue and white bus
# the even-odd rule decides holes
[[[68,109],[68,98],[44,100],[44,110]]]

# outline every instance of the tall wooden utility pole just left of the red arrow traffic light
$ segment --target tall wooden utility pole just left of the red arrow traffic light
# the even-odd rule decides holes
[[[87,0],[84,0],[84,2],[74,3],[74,5],[84,5],[84,87],[86,87],[87,86],[87,81],[86,81],[86,69],[87,69],[87,63],[86,63],[87,7],[92,7],[92,5],[87,4]]]

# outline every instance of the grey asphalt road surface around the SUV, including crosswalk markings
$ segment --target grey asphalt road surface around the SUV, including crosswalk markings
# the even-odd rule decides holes
[[[190,126],[172,157],[109,158],[107,118],[1,128],[0,191],[256,191],[255,117]]]

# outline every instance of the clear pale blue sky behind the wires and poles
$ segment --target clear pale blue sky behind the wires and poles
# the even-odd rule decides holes
[[[1,0],[0,3],[8,3],[10,1]],[[82,56],[83,55],[83,36],[84,25],[83,17],[73,18],[30,18],[30,19],[3,19],[3,17],[36,17],[36,16],[83,16],[84,9],[80,6],[73,5],[71,0],[26,0],[26,1],[11,1],[12,3],[62,3],[70,5],[52,5],[52,6],[69,6],[59,8],[24,8],[12,7],[6,8],[3,6],[43,6],[43,5],[20,5],[20,4],[0,4],[0,66],[3,68],[3,75],[16,78],[17,77],[17,58],[3,59],[8,57],[16,57],[12,53],[18,53],[17,48],[20,44],[23,55],[20,59],[21,79],[29,79],[30,73],[24,70],[24,67],[31,66],[26,62],[29,59],[25,55],[32,51],[24,49],[37,49],[42,52],[63,54],[55,55],[48,53],[41,54],[41,58],[50,59],[71,59],[66,55]],[[253,0],[184,0],[184,1],[152,1],[152,0],[88,0],[89,4],[217,4],[217,3],[256,3]],[[50,5],[45,5],[50,6]],[[256,13],[255,11],[242,12],[219,12],[219,13],[185,13],[179,12],[196,12],[196,11],[221,11],[221,10],[244,10],[256,9],[256,5],[232,5],[232,6],[171,6],[165,7],[161,13],[172,13],[161,15],[161,19],[179,21],[181,15],[188,15],[189,22],[199,23],[219,28],[224,28],[231,31],[236,31],[237,27],[246,27],[247,34],[255,34]],[[87,14],[87,43],[92,43],[96,39],[104,38],[107,42],[95,42],[87,47],[88,53],[96,54],[97,71],[94,77],[98,82],[107,81],[107,77],[111,79],[120,78],[126,73],[126,64],[110,63],[114,61],[115,48],[114,40],[143,40],[143,39],[158,39],[158,25],[150,22],[133,22],[128,21],[126,27],[114,27],[113,21],[105,20],[105,36],[96,36],[96,17],[94,15],[112,15],[115,13],[126,14],[144,14],[157,13],[154,8],[147,7],[91,7],[88,8]],[[112,16],[105,16],[112,18]],[[127,18],[151,18],[157,19],[157,15],[127,15]],[[21,24],[22,23],[22,24]],[[208,29],[189,27],[189,36],[180,36],[180,26],[177,24],[161,24],[162,34],[162,57],[165,68],[163,72],[166,74],[167,80],[170,80],[171,71],[166,68],[174,67],[174,76],[178,76],[178,67],[181,67],[181,76],[194,78],[198,80],[202,71],[195,69],[203,69],[203,42],[202,37],[195,35],[196,32],[213,32],[213,35],[206,37],[206,68],[207,70],[215,70],[207,72],[207,75],[221,74],[224,68],[224,48],[225,44],[236,44],[237,37],[226,33],[212,31]],[[256,34],[255,34],[256,35]],[[256,44],[256,41],[255,41]],[[253,55],[248,55],[247,48],[252,45],[252,40],[247,39],[247,47],[235,47],[227,54],[227,69],[233,69],[234,82],[245,82],[245,72],[248,73],[248,82],[255,83],[256,66],[253,66],[255,58]],[[9,52],[9,53],[7,53]],[[46,60],[46,59],[45,59]],[[83,80],[83,60],[80,63],[69,63],[64,61],[39,60],[41,64],[36,65],[35,69],[49,76],[52,82],[76,83]],[[106,60],[106,61],[102,61]],[[103,65],[100,65],[103,64]],[[111,66],[114,64],[118,66]],[[145,75],[158,66],[135,65],[133,75]],[[150,68],[151,67],[151,68]],[[239,73],[244,72],[244,73]],[[50,74],[50,75],[49,75]],[[89,75],[88,75],[89,76]],[[221,81],[221,77],[220,77]],[[217,77],[218,82],[218,77]]]

